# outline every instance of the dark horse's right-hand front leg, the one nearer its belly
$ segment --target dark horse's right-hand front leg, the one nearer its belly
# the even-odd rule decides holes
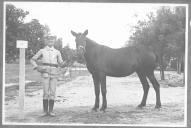
[[[101,93],[102,93],[102,98],[103,98],[103,103],[100,111],[105,111],[107,108],[107,99],[106,99],[106,75],[102,74],[100,75],[100,82],[101,82]]]

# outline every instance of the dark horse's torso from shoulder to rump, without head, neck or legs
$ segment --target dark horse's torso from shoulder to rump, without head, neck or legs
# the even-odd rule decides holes
[[[124,77],[155,65],[155,55],[146,47],[113,49],[103,45],[95,46],[86,53],[87,67],[91,73],[103,72],[107,76]]]

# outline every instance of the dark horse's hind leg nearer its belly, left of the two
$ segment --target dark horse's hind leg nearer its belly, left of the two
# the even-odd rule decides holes
[[[146,106],[147,95],[148,95],[148,91],[149,91],[149,83],[147,81],[145,74],[143,74],[142,72],[137,72],[137,75],[139,76],[139,79],[141,81],[141,84],[143,86],[143,91],[144,91],[141,104],[139,104],[138,107],[144,107],[144,106]]]

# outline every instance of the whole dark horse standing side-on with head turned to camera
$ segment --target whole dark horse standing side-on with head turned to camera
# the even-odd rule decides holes
[[[156,55],[148,48],[142,46],[130,46],[119,49],[112,49],[90,40],[86,37],[88,30],[84,33],[71,31],[76,37],[76,48],[79,53],[83,53],[86,66],[92,74],[95,88],[95,105],[93,110],[99,108],[100,84],[103,103],[101,111],[107,108],[106,99],[106,76],[125,77],[136,72],[143,86],[143,98],[138,107],[146,106],[149,84],[151,81],[156,92],[156,106],[161,107],[160,85],[154,76],[156,65]]]

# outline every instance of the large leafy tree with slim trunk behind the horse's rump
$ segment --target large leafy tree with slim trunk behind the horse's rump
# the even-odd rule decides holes
[[[185,8],[161,7],[156,17],[151,13],[148,21],[139,21],[130,41],[134,45],[152,47],[159,58],[161,79],[164,80],[165,60],[181,58],[185,46]],[[183,57],[182,57],[183,58]]]

